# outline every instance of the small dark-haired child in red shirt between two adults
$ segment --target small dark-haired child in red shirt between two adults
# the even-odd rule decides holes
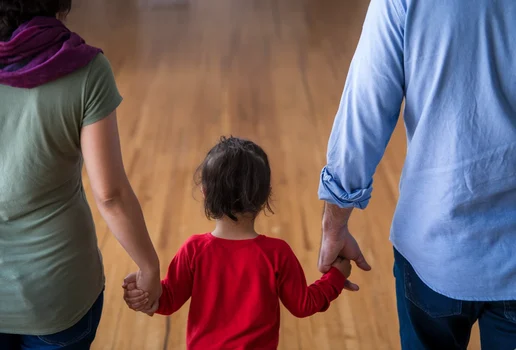
[[[191,298],[188,349],[276,349],[279,300],[297,317],[325,311],[344,288],[351,265],[338,259],[308,287],[289,245],[255,231],[257,215],[272,210],[269,161],[253,142],[222,138],[198,174],[215,230],[187,240],[162,281],[159,307],[143,311],[170,315]],[[141,310],[146,294],[135,281],[135,274],[126,279],[124,299]]]

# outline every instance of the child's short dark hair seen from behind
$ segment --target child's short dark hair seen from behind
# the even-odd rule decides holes
[[[254,142],[222,137],[197,169],[196,183],[202,186],[209,219],[237,221],[238,214],[255,217],[264,209],[273,213],[269,160]]]

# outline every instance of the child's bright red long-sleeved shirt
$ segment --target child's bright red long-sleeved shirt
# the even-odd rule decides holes
[[[311,316],[328,309],[345,281],[332,268],[307,286],[294,252],[280,239],[207,233],[191,237],[170,263],[157,313],[170,315],[192,298],[189,350],[276,349],[279,300],[294,316]]]

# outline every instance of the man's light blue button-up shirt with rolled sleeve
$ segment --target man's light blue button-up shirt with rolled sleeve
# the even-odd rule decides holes
[[[435,291],[516,299],[516,1],[372,0],[319,197],[365,208],[405,98],[391,241]]]

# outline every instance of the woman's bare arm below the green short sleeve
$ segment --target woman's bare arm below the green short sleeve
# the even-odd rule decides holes
[[[81,148],[99,211],[140,268],[138,288],[149,293],[152,304],[161,295],[159,260],[140,203],[125,173],[116,111],[83,127]]]

